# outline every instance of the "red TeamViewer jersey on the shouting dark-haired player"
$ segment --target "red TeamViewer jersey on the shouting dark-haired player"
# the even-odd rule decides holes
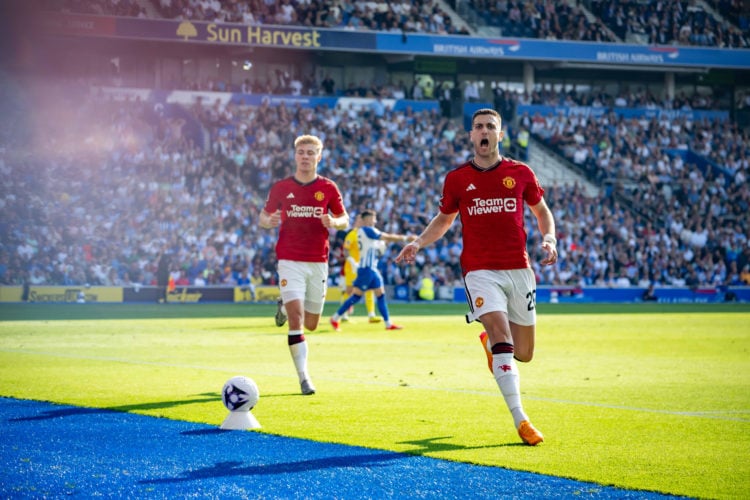
[[[530,267],[524,202],[536,205],[543,195],[531,168],[516,160],[502,158],[487,170],[469,161],[448,172],[440,211],[461,217],[463,273]]]

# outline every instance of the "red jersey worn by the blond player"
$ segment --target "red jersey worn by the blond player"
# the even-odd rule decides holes
[[[309,184],[287,177],[271,186],[263,209],[269,214],[281,210],[278,259],[328,262],[328,228],[320,217],[327,213],[339,216],[346,211],[336,183],[322,176]]]

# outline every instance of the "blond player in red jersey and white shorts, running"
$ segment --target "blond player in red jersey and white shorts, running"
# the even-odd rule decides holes
[[[276,255],[283,313],[289,319],[289,351],[302,394],[315,394],[307,370],[307,341],[325,305],[328,285],[329,229],[349,226],[341,192],[332,180],[318,175],[323,143],[313,135],[294,141],[296,171],[271,186],[260,226],[279,228]],[[277,314],[278,316],[278,314]],[[277,319],[278,322],[278,319]]]

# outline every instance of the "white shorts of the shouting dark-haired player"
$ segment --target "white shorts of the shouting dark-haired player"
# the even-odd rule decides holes
[[[467,322],[502,311],[517,325],[536,324],[536,279],[531,269],[471,271],[464,277],[464,286],[469,303]]]

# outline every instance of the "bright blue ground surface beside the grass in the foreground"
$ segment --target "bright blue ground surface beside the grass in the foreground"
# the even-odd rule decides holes
[[[0,497],[668,498],[109,410],[0,398]]]

